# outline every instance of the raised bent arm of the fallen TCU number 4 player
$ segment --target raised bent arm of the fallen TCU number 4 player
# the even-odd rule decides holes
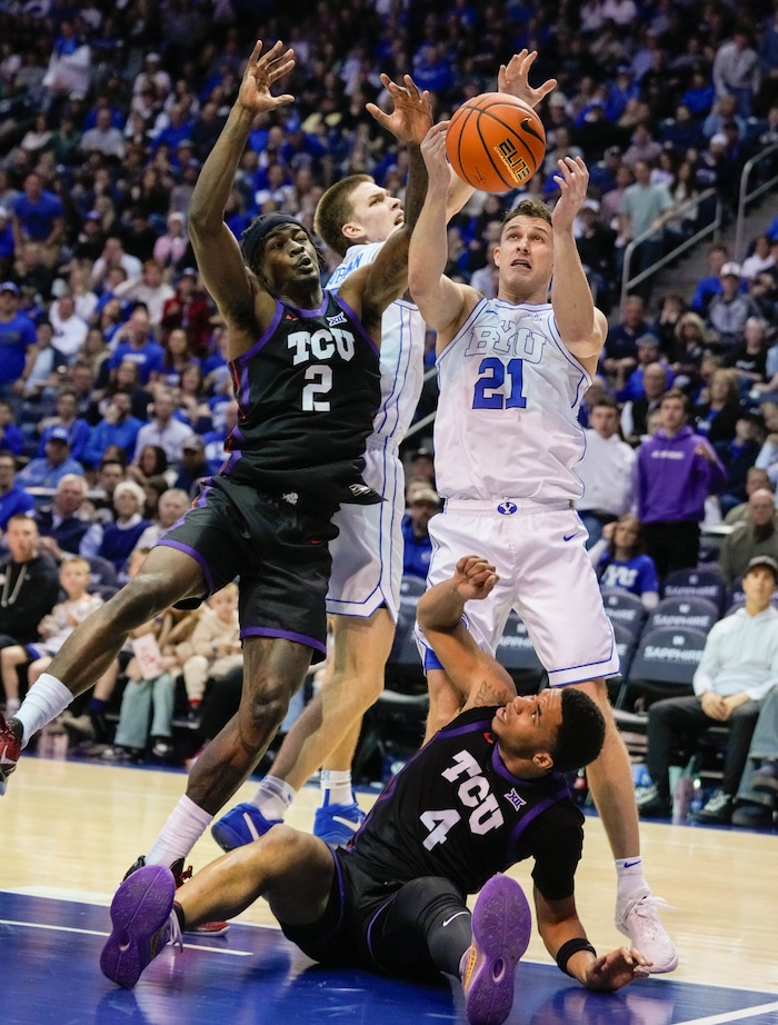
[[[462,623],[465,604],[486,598],[496,583],[495,567],[468,555],[459,559],[449,580],[436,584],[419,598],[419,626],[455,687],[466,696],[466,708],[501,705],[516,696],[510,675],[478,647]]]

